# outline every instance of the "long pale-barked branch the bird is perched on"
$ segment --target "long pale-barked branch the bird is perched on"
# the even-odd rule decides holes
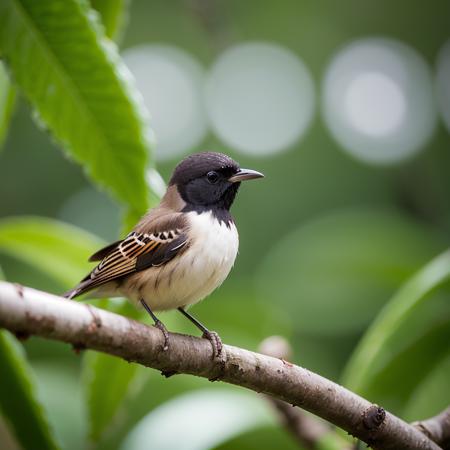
[[[78,348],[109,353],[163,373],[224,381],[299,406],[376,449],[438,450],[417,428],[307,369],[225,345],[214,360],[205,339],[170,334],[163,351],[160,330],[87,304],[11,283],[0,283],[0,327]]]

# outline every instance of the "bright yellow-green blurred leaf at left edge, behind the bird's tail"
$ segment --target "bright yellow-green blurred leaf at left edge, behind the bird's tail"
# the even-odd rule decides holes
[[[53,219],[0,220],[0,252],[35,266],[67,288],[86,275],[87,259],[103,245],[92,234]]]

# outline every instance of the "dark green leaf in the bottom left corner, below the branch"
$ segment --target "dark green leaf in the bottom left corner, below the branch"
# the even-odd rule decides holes
[[[0,330],[0,409],[24,449],[57,449],[37,399],[31,367],[12,337]]]

